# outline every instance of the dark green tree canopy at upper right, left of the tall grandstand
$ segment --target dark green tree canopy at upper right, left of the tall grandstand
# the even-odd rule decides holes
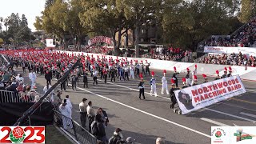
[[[230,25],[230,21],[236,18],[237,2],[194,0],[166,3],[162,16],[166,43],[191,49],[210,35],[230,34],[238,28],[232,26],[237,26],[237,23]]]

